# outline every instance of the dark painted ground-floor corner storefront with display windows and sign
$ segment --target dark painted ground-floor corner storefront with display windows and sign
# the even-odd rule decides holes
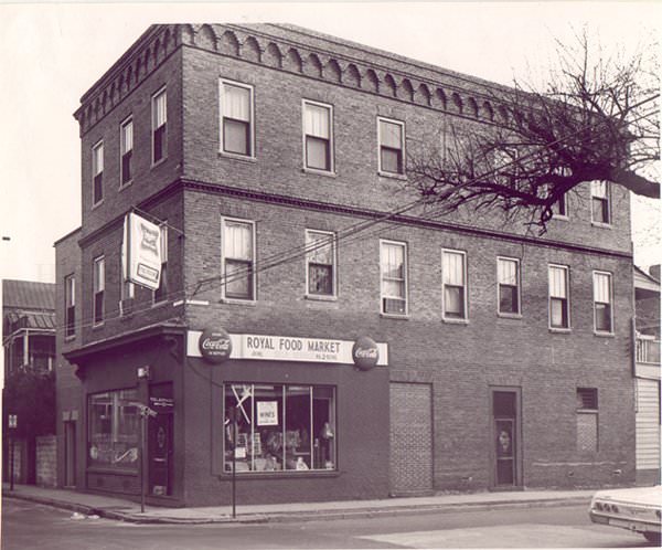
[[[388,350],[152,327],[68,353],[79,488],[164,506],[388,495]],[[147,413],[147,414],[145,414]]]

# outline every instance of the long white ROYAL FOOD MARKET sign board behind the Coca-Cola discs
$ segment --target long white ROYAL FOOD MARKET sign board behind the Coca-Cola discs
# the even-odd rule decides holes
[[[203,357],[201,339],[209,331],[189,330],[189,357]],[[299,338],[269,335],[227,335],[231,341],[229,359],[256,359],[265,361],[302,361],[322,363],[356,363],[354,340],[329,338]],[[359,340],[362,340],[361,338]],[[371,340],[372,341],[372,340]],[[371,360],[376,366],[388,364],[388,346],[374,342]],[[361,355],[361,353],[360,353]]]

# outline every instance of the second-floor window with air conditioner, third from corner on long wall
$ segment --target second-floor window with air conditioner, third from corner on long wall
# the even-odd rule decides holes
[[[407,247],[381,241],[382,313],[407,315]]]

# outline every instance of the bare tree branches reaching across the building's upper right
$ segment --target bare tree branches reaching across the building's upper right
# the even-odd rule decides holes
[[[515,83],[489,92],[499,105],[481,131],[451,124],[409,148],[409,181],[439,212],[463,205],[498,208],[545,232],[554,205],[587,181],[610,181],[659,198],[658,71],[650,53],[626,62],[590,62],[586,34],[578,49],[559,44],[559,71],[543,92]],[[656,61],[656,60],[655,60]]]

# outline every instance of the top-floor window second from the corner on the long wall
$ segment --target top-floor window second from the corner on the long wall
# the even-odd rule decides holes
[[[333,108],[331,105],[303,101],[305,166],[333,171]]]

